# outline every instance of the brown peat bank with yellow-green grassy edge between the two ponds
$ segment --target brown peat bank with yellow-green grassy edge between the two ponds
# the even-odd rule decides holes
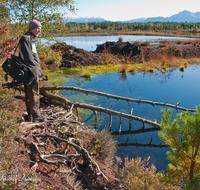
[[[61,53],[59,67],[46,62],[44,70],[68,70],[68,73],[100,73],[118,71],[154,72],[180,68],[200,63],[200,41],[171,42],[161,41],[158,45],[147,42],[106,42],[96,51],[88,52],[65,43],[54,44],[52,51]],[[45,59],[42,59],[45,62]],[[78,71],[80,70],[80,71]],[[86,71],[87,70],[87,71]]]

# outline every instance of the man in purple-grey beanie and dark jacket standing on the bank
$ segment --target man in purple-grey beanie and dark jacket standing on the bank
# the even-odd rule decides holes
[[[43,122],[44,118],[40,115],[40,97],[39,97],[39,77],[41,68],[39,57],[36,51],[35,39],[41,32],[41,24],[33,19],[29,23],[28,32],[23,35],[19,41],[19,57],[28,66],[33,82],[30,85],[24,85],[25,103],[28,116],[25,121]]]

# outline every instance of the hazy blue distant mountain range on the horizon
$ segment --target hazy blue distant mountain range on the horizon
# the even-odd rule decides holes
[[[65,22],[76,22],[76,23],[88,23],[88,22],[112,22],[105,20],[103,18],[95,17],[79,17],[79,18],[70,18]],[[172,15],[170,17],[149,17],[149,18],[138,18],[127,21],[118,21],[122,23],[133,23],[133,22],[200,22],[200,12],[192,13],[190,11],[182,11],[178,14]]]

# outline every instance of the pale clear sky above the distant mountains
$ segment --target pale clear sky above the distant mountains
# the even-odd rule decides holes
[[[123,21],[147,17],[169,17],[183,10],[200,12],[200,0],[74,0],[76,15],[68,17],[102,17]]]

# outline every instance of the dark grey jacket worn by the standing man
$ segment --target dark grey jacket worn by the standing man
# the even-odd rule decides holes
[[[33,34],[28,31],[19,40],[19,57],[28,66],[32,77],[41,76],[39,57],[36,51]]]

